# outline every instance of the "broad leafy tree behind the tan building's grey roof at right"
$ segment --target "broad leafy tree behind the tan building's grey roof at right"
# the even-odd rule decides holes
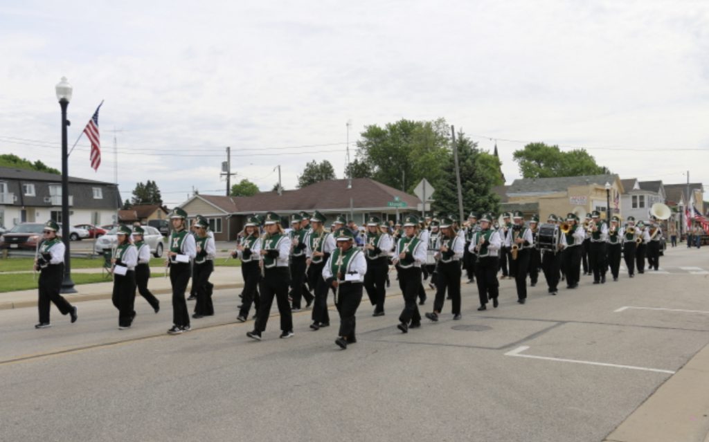
[[[596,159],[586,149],[562,152],[558,146],[541,142],[530,143],[514,152],[515,162],[524,178],[553,178],[555,176],[581,176],[608,174],[608,168],[598,166]]]

